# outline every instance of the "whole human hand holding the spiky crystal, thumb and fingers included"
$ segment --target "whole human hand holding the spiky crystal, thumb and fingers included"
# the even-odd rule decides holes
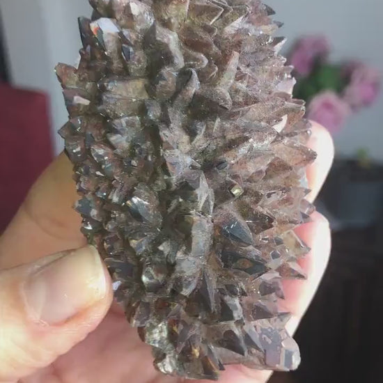
[[[334,150],[329,134],[318,125],[309,146],[318,153],[308,168],[313,190],[308,198],[313,201]],[[0,382],[183,382],[153,368],[150,347],[112,304],[109,275],[95,249],[84,247],[81,219],[72,210],[76,199],[72,165],[61,155],[0,237]],[[286,300],[281,306],[292,313],[290,332],[318,288],[330,250],[329,226],[319,213],[297,233],[312,250],[300,261],[308,279],[283,282]],[[270,375],[227,366],[219,382],[265,383]]]

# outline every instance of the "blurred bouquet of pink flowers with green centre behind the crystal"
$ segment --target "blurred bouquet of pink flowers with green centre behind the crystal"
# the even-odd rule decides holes
[[[353,113],[372,105],[380,93],[380,73],[360,61],[329,62],[324,36],[299,39],[289,55],[295,67],[295,97],[307,102],[307,115],[334,134]]]

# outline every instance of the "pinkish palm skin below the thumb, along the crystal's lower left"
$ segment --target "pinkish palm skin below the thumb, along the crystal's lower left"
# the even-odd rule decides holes
[[[175,383],[152,367],[150,347],[113,307],[100,326],[51,366],[26,378],[33,382]]]

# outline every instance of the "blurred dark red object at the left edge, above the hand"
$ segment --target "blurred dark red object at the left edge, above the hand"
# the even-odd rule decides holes
[[[52,157],[46,95],[0,83],[0,233]]]

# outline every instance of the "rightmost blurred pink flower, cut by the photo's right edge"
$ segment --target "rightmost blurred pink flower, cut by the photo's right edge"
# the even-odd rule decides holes
[[[363,63],[352,63],[345,70],[350,84],[345,88],[343,99],[354,110],[373,104],[380,92],[380,73]]]

